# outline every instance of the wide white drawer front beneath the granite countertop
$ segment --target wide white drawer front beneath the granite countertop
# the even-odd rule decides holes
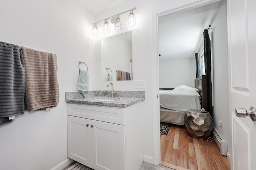
[[[68,104],[68,115],[124,125],[124,109],[119,107]]]

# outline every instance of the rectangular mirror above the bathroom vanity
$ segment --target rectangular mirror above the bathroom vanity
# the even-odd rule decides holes
[[[101,78],[132,80],[132,31],[101,40]]]

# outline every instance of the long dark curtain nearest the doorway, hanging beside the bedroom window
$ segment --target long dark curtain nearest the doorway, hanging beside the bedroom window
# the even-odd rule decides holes
[[[208,34],[208,30],[204,29],[204,66],[206,73],[206,84],[207,84],[207,108],[208,112],[212,116],[212,63],[211,63],[211,41]]]

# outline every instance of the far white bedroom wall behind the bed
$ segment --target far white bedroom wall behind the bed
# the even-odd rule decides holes
[[[175,88],[180,85],[194,87],[196,59],[159,61],[159,87]]]

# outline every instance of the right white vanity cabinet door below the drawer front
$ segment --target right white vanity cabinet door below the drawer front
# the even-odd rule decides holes
[[[125,170],[124,126],[92,120],[92,168]]]

